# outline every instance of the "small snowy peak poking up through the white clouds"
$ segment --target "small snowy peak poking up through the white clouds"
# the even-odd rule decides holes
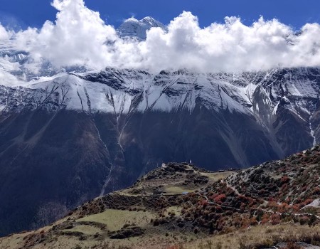
[[[119,26],[117,31],[119,33],[119,36],[122,37],[129,36],[138,38],[139,40],[145,40],[146,31],[153,27],[159,27],[166,30],[166,26],[164,26],[164,24],[156,21],[150,16],[146,16],[141,20],[137,20],[134,17],[128,18],[124,21],[124,23],[122,23],[121,26]]]

